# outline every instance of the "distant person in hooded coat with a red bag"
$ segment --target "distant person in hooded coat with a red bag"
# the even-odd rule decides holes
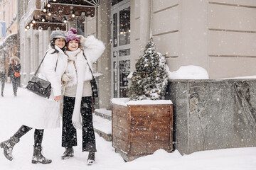
[[[11,84],[13,86],[14,96],[17,96],[18,84],[21,79],[21,74],[19,74],[20,71],[21,71],[21,60],[16,56],[11,57],[10,63],[9,63],[8,77],[11,78]]]

